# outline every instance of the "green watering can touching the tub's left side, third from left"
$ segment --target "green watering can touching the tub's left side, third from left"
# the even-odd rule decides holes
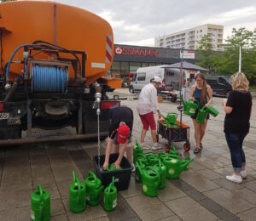
[[[99,205],[103,188],[101,179],[96,178],[96,174],[90,170],[85,179],[86,204],[89,206]]]

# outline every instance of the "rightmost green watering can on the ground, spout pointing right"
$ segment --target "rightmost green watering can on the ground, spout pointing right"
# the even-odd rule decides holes
[[[183,159],[182,161],[179,160],[179,157],[164,157],[162,162],[166,166],[167,173],[166,177],[167,178],[179,178],[180,173],[185,170],[189,163],[193,161],[193,159]]]

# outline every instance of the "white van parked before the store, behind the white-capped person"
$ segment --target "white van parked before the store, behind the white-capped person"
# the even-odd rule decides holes
[[[157,65],[138,68],[137,76],[134,77],[133,81],[130,84],[130,92],[140,92],[142,88],[146,84],[148,84],[154,76],[161,77],[163,79],[163,84],[165,85],[166,88],[177,90],[179,87],[180,70],[173,68],[165,68],[165,66],[166,65]]]

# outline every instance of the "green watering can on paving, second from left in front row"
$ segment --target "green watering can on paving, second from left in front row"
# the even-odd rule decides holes
[[[85,184],[76,178],[73,170],[73,183],[69,186],[69,209],[71,212],[83,212],[85,205]]]

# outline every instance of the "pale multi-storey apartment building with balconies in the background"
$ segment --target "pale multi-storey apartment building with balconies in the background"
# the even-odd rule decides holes
[[[215,51],[223,50],[224,26],[206,24],[169,35],[155,37],[154,47],[195,49],[201,37],[209,34],[212,37],[212,48]]]

